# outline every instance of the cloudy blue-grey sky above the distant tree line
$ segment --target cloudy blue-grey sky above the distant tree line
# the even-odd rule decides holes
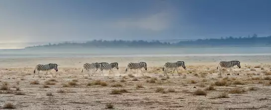
[[[0,43],[271,35],[271,0],[0,0]]]

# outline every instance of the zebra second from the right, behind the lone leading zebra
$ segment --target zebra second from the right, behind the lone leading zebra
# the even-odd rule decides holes
[[[180,67],[180,66],[182,66],[182,67],[186,70],[185,65],[184,65],[184,61],[166,62],[166,63],[164,64],[164,67],[163,67],[164,76],[165,76],[166,74],[167,74],[167,76],[168,76],[167,70],[170,69],[170,68],[174,68],[174,70],[173,70],[173,72],[172,72],[172,75],[173,75],[173,73],[174,73],[175,70],[176,70],[177,73],[178,73],[177,68]]]

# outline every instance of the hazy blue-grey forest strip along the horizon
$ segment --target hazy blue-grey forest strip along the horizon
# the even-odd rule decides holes
[[[221,37],[220,39],[198,39],[191,41],[180,41],[178,43],[160,42],[153,40],[151,42],[137,40],[93,40],[85,43],[64,42],[59,44],[48,44],[42,46],[33,46],[26,48],[161,48],[161,47],[182,47],[182,48],[215,48],[215,47],[271,47],[271,36],[258,37],[256,34],[248,37]]]

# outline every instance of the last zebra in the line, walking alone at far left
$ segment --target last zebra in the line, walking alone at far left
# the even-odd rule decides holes
[[[45,78],[46,78],[46,75],[47,75],[47,73],[48,73],[49,70],[55,69],[56,71],[58,71],[57,66],[58,66],[58,65],[55,64],[55,63],[38,64],[38,65],[36,65],[36,67],[35,67],[33,78],[35,77],[36,71],[38,72],[38,76],[39,76],[39,77],[40,77],[40,75],[39,75],[39,72],[40,72],[40,71],[46,71],[46,74],[45,74]],[[51,73],[51,72],[50,72],[50,73]],[[53,73],[51,73],[51,74],[52,74],[53,77],[55,77],[55,76],[53,75]],[[41,78],[41,77],[40,77],[40,78]]]

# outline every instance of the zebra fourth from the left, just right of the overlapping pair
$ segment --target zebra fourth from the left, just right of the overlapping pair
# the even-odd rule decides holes
[[[143,71],[141,70],[141,68],[144,68],[147,71],[147,63],[146,62],[136,62],[136,63],[130,62],[127,65],[127,68],[125,70],[125,74],[129,69],[130,70],[137,69],[136,73],[138,73],[138,69],[140,69],[142,75],[144,76]]]

